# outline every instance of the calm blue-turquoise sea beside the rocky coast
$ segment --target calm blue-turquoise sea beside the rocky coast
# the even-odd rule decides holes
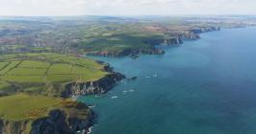
[[[164,56],[98,57],[139,78],[80,99],[96,105],[92,133],[255,134],[255,35],[256,28],[222,30],[166,47]]]

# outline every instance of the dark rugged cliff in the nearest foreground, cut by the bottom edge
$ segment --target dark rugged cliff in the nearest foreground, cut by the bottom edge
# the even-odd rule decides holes
[[[78,118],[62,110],[53,110],[49,117],[32,123],[31,134],[75,134],[77,131],[86,133],[91,126],[92,114],[88,118]]]

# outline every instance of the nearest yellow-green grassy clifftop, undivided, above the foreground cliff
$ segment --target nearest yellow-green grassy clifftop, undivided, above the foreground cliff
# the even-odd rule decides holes
[[[21,121],[47,116],[49,110],[60,107],[62,99],[17,94],[0,98],[0,118]]]

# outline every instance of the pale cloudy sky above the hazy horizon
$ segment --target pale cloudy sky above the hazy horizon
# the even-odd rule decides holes
[[[0,0],[0,15],[256,14],[256,0]]]

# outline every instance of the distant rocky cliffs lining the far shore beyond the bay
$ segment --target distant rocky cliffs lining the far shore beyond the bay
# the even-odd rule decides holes
[[[143,41],[146,44],[150,44],[149,48],[146,49],[124,49],[122,51],[97,51],[89,52],[88,56],[110,56],[110,57],[121,57],[121,56],[137,56],[137,55],[164,55],[165,51],[157,48],[159,45],[166,46],[179,46],[186,40],[195,40],[200,38],[200,33],[208,33],[220,31],[220,27],[204,27],[194,28],[192,30],[178,31],[178,32],[166,32],[166,35],[171,36],[169,38],[150,38]]]

